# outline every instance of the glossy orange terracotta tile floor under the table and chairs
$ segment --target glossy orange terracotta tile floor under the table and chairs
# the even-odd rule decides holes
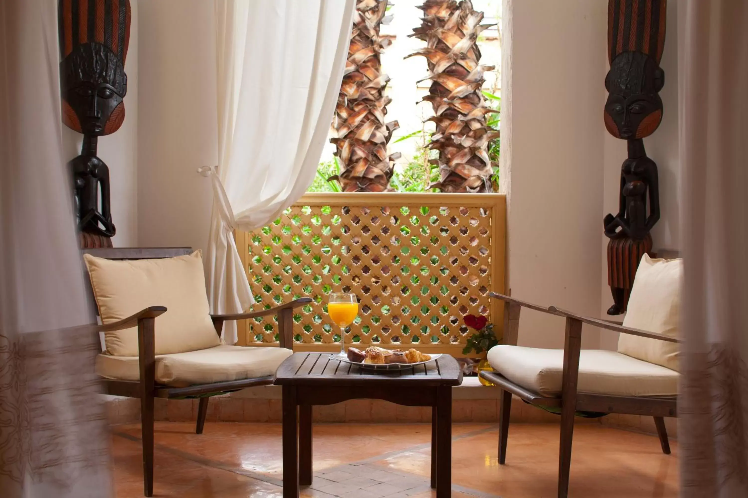
[[[427,424],[317,424],[315,484],[302,497],[432,497]],[[506,465],[497,429],[453,426],[453,497],[555,497],[558,426],[512,424]],[[597,424],[574,428],[574,498],[678,496],[678,443],[663,455],[657,438]],[[140,428],[112,436],[117,498],[142,497]],[[156,423],[156,497],[282,497],[281,426],[271,423]],[[368,480],[367,480],[368,479]],[[371,482],[370,482],[371,481]],[[359,487],[367,488],[361,490]]]

